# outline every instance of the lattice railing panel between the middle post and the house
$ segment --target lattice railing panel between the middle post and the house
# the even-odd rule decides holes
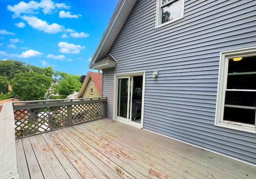
[[[104,103],[76,104],[72,106],[72,124],[102,118],[104,116]]]

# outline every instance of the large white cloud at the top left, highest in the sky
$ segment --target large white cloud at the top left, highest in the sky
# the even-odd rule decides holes
[[[15,4],[14,6],[7,6],[7,9],[14,12],[13,18],[20,17],[20,14],[36,14],[38,10],[42,10],[44,14],[51,14],[56,8],[70,9],[71,6],[66,6],[65,3],[54,3],[52,0],[41,0],[35,2],[34,0],[26,3],[24,1]]]

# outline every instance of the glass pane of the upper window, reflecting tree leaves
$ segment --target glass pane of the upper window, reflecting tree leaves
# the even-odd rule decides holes
[[[165,22],[180,17],[180,6],[181,1],[178,0],[161,8],[161,23],[163,24]]]

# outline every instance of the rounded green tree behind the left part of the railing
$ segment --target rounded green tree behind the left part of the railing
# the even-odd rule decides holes
[[[34,71],[15,74],[10,81],[12,91],[20,97],[20,100],[45,99],[46,91],[51,83],[52,78]]]

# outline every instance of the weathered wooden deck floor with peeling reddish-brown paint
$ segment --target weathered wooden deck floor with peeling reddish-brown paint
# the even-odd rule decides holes
[[[256,179],[256,167],[111,119],[16,140],[20,179]]]

